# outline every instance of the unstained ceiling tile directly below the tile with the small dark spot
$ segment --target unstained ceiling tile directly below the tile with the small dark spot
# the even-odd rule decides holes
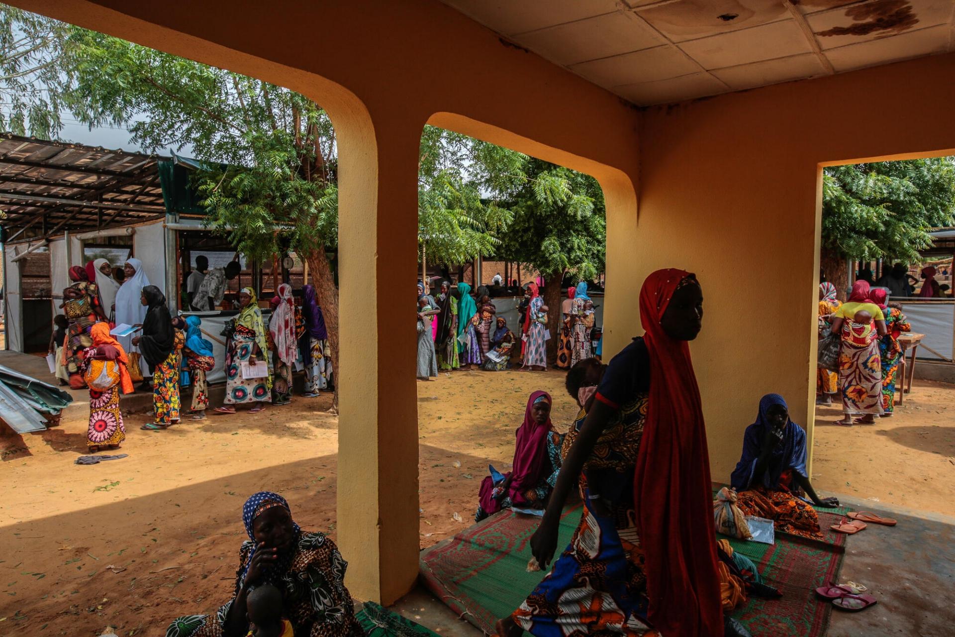
[[[681,42],[680,48],[707,69],[722,69],[799,53],[812,53],[795,20],[784,20],[745,31],[721,33]]]

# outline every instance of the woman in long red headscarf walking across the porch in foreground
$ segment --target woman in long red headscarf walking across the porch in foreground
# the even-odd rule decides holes
[[[521,629],[724,635],[710,460],[688,344],[702,318],[694,275],[666,269],[647,277],[646,333],[613,357],[583,422],[567,435],[557,486],[531,538],[537,562],[546,567],[554,555],[575,482],[584,496],[580,526],[551,573],[499,622],[502,637]]]

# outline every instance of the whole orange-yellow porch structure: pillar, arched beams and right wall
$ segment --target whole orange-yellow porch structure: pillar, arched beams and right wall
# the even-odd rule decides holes
[[[820,162],[955,148],[950,55],[641,112],[436,0],[11,4],[329,110],[340,155],[338,540],[351,592],[386,604],[416,576],[417,422],[414,330],[393,329],[378,299],[415,278],[426,122],[600,180],[607,355],[641,333],[651,269],[698,273],[707,315],[692,351],[714,478],[728,476],[762,393],[783,393],[809,424]]]

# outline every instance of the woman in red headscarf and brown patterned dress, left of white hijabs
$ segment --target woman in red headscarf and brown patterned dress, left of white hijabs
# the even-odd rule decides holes
[[[106,321],[106,314],[99,303],[99,290],[84,267],[74,265],[70,268],[70,280],[73,284],[63,290],[63,304],[60,308],[66,314],[66,345],[63,348],[63,366],[70,374],[70,387],[74,390],[86,386],[80,365],[83,362],[83,350],[93,345],[90,329],[96,321]]]

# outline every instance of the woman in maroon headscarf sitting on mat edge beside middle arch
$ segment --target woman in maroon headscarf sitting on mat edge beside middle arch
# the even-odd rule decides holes
[[[550,406],[550,394],[546,392],[532,393],[527,399],[524,422],[517,431],[513,469],[501,475],[489,467],[491,475],[480,483],[475,521],[501,509],[542,509],[547,504],[561,469],[563,442],[563,436],[550,422]]]

